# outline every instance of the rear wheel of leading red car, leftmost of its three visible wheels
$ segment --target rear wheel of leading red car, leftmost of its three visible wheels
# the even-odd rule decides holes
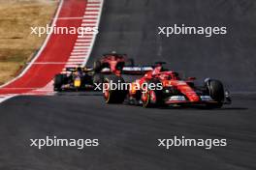
[[[104,99],[106,103],[122,103],[127,95],[127,91],[111,89],[110,83],[120,85],[121,83],[125,83],[122,77],[111,75],[105,78],[104,81]],[[109,87],[107,87],[109,86]]]

